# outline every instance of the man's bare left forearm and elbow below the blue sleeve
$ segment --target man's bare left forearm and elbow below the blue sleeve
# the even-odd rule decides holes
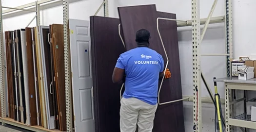
[[[112,81],[114,83],[117,83],[117,82],[123,83],[125,81],[124,69],[115,67],[112,75]]]

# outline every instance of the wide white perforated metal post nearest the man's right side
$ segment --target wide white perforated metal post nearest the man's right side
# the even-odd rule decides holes
[[[202,132],[201,121],[201,69],[200,69],[200,0],[192,1],[192,49],[193,49],[193,122],[194,132]]]

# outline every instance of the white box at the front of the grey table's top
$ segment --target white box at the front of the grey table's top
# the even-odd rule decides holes
[[[254,67],[237,66],[238,80],[249,80],[254,78]]]

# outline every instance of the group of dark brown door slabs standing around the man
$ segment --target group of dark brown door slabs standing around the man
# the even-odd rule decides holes
[[[155,5],[119,7],[119,18],[91,16],[93,64],[93,92],[96,132],[119,132],[120,84],[112,83],[112,71],[118,55],[137,47],[136,32],[147,29],[151,33],[150,48],[158,51],[165,61],[165,53],[157,31],[157,18],[173,18],[175,14],[158,12]],[[121,24],[118,33],[118,24]],[[107,26],[106,26],[107,25]],[[169,57],[172,78],[165,80],[160,103],[182,99],[176,21],[159,20],[159,30]],[[119,38],[122,36],[124,46]],[[107,115],[105,113],[108,113]],[[184,132],[182,101],[158,105],[153,132]]]

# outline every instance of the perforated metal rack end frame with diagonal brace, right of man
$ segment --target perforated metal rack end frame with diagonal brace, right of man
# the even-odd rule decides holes
[[[200,68],[200,45],[209,23],[204,25],[203,33],[200,33],[200,0],[192,0],[192,43],[193,43],[193,112],[194,112],[194,132],[202,132],[202,100],[201,100],[201,68]],[[217,0],[214,1],[212,10],[207,21],[211,18]],[[225,29],[226,29],[226,53],[211,54],[207,56],[224,55],[226,58],[227,76],[230,76],[230,60],[233,58],[233,38],[232,38],[232,0],[225,0]],[[232,91],[229,91],[232,93]]]

